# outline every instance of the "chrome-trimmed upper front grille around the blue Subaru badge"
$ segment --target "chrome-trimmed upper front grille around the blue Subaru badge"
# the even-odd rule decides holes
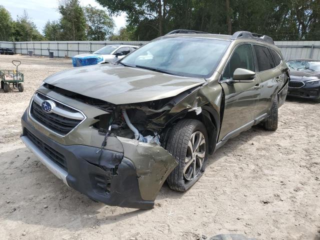
[[[65,135],[69,133],[74,127],[76,127],[84,118],[84,116],[69,106],[66,106],[58,101],[54,101],[56,105],[56,109],[60,109],[60,111],[47,113],[42,110],[41,108],[41,101],[44,100],[53,100],[47,96],[44,96],[40,93],[36,93],[34,96],[31,104],[30,104],[30,116],[37,121],[42,126],[46,127],[47,129],[57,133],[58,135]],[[63,112],[64,115],[60,115],[59,112]],[[75,119],[74,114],[80,114],[80,118],[82,119]],[[67,117],[70,116],[70,117]]]

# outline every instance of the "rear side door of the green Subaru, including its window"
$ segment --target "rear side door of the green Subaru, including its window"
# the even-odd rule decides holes
[[[259,86],[260,97],[257,104],[256,118],[269,112],[273,98],[279,88],[279,80],[282,72],[279,68],[275,67],[271,53],[266,46],[253,44],[253,49],[258,70],[256,78],[261,82]]]

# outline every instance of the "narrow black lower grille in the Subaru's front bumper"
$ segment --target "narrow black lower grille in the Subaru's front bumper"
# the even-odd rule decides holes
[[[27,136],[47,157],[49,157],[54,163],[62,167],[67,171],[67,165],[64,155],[54,150],[52,147],[41,141],[30,131],[24,128],[24,135]]]

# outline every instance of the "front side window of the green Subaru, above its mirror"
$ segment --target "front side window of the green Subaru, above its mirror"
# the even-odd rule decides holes
[[[235,48],[222,74],[222,80],[233,77],[236,68],[254,71],[253,55],[250,44],[243,44]]]

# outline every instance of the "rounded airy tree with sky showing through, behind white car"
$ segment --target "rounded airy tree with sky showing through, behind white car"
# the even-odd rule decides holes
[[[88,4],[84,7],[86,34],[89,40],[106,40],[112,34],[114,21],[105,10]]]

